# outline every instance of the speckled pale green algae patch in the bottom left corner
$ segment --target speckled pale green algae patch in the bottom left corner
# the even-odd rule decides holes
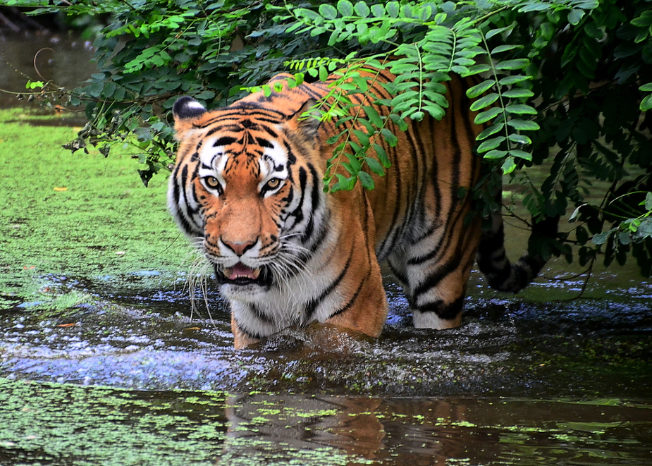
[[[225,438],[224,398],[203,398],[219,416],[202,415],[183,393],[0,379],[0,462],[211,465]]]

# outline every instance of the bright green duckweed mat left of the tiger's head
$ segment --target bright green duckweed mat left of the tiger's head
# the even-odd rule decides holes
[[[52,123],[0,111],[2,300],[34,299],[44,274],[187,269],[190,247],[166,209],[166,179],[145,188],[134,176],[138,162],[119,147],[106,158],[70,154],[61,145],[79,128]]]

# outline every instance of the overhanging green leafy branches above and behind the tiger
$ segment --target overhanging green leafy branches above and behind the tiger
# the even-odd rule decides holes
[[[476,122],[486,125],[477,150],[493,166],[481,180],[488,189],[474,192],[483,201],[481,214],[499,207],[487,193],[508,174],[524,187],[522,202],[535,221],[574,209],[570,220],[577,226],[543,245],[544,255],[571,260],[575,244],[579,262],[591,266],[598,254],[606,264],[622,264],[632,252],[644,275],[652,274],[652,203],[646,202],[652,8],[646,0],[8,4],[42,6],[35,14],[111,14],[95,42],[99,73],[66,93],[69,104],[85,105],[90,119],[70,147],[93,144],[107,153],[113,142],[135,134],[145,181],[172,161],[169,109],[181,94],[223,106],[280,71],[295,73],[297,84],[340,69],[346,93],[333,90],[335,104],[317,110],[321,118],[355,118],[348,96],[368,93],[373,79],[360,71],[387,66],[398,75],[387,87],[393,98],[377,104],[390,116],[371,107],[366,116],[357,114],[364,130],[333,138],[337,150],[325,179],[330,190],[350,189],[357,180],[373,188],[369,173],[381,176],[389,168],[378,144],[379,137],[393,142],[386,123],[441,118],[448,106],[441,82],[450,73],[478,75],[468,96],[475,99]],[[52,86],[46,82],[39,95],[61,92]],[[369,147],[378,159],[367,155]],[[548,175],[536,180],[531,166]]]

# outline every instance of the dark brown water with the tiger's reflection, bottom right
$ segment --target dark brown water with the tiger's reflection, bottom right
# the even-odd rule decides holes
[[[652,406],[617,400],[256,394],[230,397],[227,406],[228,435],[219,464],[240,464],[236,458],[246,458],[242,464],[247,465],[281,458],[292,464],[302,450],[314,455],[304,453],[311,458],[304,464],[319,465],[613,465],[616,460],[644,465],[652,460]],[[346,453],[340,453],[342,462],[333,449]]]

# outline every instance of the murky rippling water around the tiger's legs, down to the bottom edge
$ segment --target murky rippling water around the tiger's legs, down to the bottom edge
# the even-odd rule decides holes
[[[512,297],[474,274],[447,331],[413,329],[388,277],[381,338],[313,325],[238,352],[226,303],[197,289],[192,311],[185,271],[75,274],[36,277],[42,302],[1,297],[1,465],[652,464],[652,286],[634,269],[572,301],[582,278]]]

